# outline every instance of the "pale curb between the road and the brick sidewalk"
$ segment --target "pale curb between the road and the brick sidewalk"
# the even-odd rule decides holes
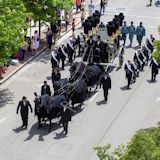
[[[76,23],[76,26],[80,23],[81,21],[78,20],[78,22]],[[63,35],[61,35],[57,40],[59,40],[60,38],[62,38],[65,34],[69,33],[72,30],[72,27],[70,27]],[[36,57],[38,57],[42,52],[44,52],[47,48],[44,47],[42,48],[36,55],[34,55],[33,57],[30,57],[26,62],[24,62],[23,65],[19,66],[15,71],[11,72],[9,75],[7,75],[4,79],[2,79],[0,81],[0,85],[2,85],[3,83],[5,83],[8,79],[10,79],[13,75],[15,75],[20,69],[22,69],[23,67],[25,67],[29,62],[31,62],[33,59],[35,59]]]

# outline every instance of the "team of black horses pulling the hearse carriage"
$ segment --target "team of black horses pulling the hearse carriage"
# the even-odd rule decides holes
[[[61,79],[56,82],[54,95],[35,94],[35,114],[38,117],[38,128],[42,127],[42,120],[49,120],[49,132],[51,130],[52,119],[60,117],[63,110],[61,105],[68,102],[72,106],[79,104],[82,106],[87,97],[90,96],[91,88],[97,88],[100,77],[104,72],[104,67],[100,64],[84,64],[75,62],[70,66],[70,78]]]

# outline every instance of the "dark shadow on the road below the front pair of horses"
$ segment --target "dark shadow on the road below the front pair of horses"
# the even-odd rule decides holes
[[[51,132],[53,132],[59,128],[61,128],[61,126],[58,123],[52,123]],[[49,134],[48,129],[49,129],[49,125],[47,125],[47,124],[43,124],[43,127],[41,129],[38,129],[38,123],[35,123],[31,127],[31,129],[29,130],[29,132],[28,132],[29,135],[24,141],[29,141],[36,135],[39,136],[38,137],[39,141],[44,141],[44,137]]]

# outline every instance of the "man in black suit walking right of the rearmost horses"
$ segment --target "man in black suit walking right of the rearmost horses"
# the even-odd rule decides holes
[[[111,89],[111,78],[108,73],[104,73],[100,81],[100,88],[103,86],[104,99],[108,99],[108,90]]]

